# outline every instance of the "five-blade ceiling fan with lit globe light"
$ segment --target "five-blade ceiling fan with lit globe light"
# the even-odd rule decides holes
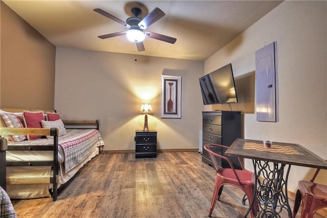
[[[106,16],[128,28],[127,31],[109,33],[109,34],[105,34],[105,35],[100,35],[98,37],[101,39],[106,39],[106,38],[111,38],[114,36],[126,35],[130,41],[134,41],[136,43],[136,48],[137,48],[137,51],[139,51],[139,52],[145,51],[143,40],[146,36],[153,38],[153,39],[157,39],[160,41],[165,41],[165,42],[174,44],[176,42],[176,38],[162,35],[159,33],[150,32],[150,31],[144,31],[150,25],[155,23],[155,21],[157,21],[161,17],[165,16],[165,13],[163,11],[161,11],[159,8],[155,8],[146,17],[144,17],[142,19],[141,14],[143,11],[142,11],[142,9],[140,9],[141,7],[138,7],[138,6],[143,6],[143,5],[140,3],[137,3],[136,7],[131,8],[132,16],[128,17],[126,19],[126,23],[123,20],[109,14],[108,12],[106,12],[102,9],[99,9],[99,8],[94,9],[95,12],[98,12],[99,14]]]

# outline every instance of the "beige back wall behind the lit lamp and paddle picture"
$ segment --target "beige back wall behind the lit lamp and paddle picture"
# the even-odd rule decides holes
[[[132,45],[131,45],[132,46]],[[198,148],[204,62],[57,47],[55,108],[63,118],[99,119],[104,150],[135,149],[142,103],[158,149]],[[181,76],[181,119],[160,118],[161,75]]]

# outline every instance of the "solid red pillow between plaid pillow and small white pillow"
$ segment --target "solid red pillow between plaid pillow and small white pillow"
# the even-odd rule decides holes
[[[22,113],[25,127],[28,128],[42,128],[41,120],[44,120],[43,112],[32,112],[32,111],[24,111]],[[28,140],[35,140],[41,138],[42,136],[27,136]]]

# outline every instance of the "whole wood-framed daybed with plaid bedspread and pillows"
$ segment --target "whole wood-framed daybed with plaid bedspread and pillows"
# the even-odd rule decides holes
[[[27,113],[26,110],[1,109],[1,121],[4,121],[4,113],[6,116],[8,113],[11,113],[10,116],[15,114],[21,120],[19,116],[22,111]],[[34,111],[40,112],[39,110],[28,112]],[[54,110],[42,112],[44,120],[48,117],[48,113],[56,114]],[[6,151],[2,151],[2,155],[6,156],[2,168],[5,165],[6,170],[1,170],[1,186],[12,199],[51,197],[52,194],[53,201],[56,201],[57,189],[73,178],[77,171],[91,158],[97,156],[104,146],[99,132],[99,121],[60,119],[64,129],[43,126],[43,123],[57,121],[42,121],[42,127],[29,127],[29,123],[25,121],[24,119],[25,126],[20,127],[4,127],[5,123],[2,122],[0,135],[7,137],[7,139],[2,138],[4,144],[7,142],[7,146],[5,146]],[[62,130],[65,134],[61,134]],[[13,140],[13,137],[25,136],[40,138],[16,142]]]

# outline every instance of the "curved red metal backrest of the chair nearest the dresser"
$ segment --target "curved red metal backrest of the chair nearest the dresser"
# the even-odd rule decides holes
[[[232,170],[233,173],[235,174],[235,177],[236,177],[238,183],[239,183],[240,185],[242,185],[241,180],[240,180],[240,178],[238,177],[238,175],[237,175],[237,173],[236,173],[236,170],[235,170],[233,164],[231,163],[231,161],[230,161],[227,157],[222,156],[222,155],[219,155],[219,154],[217,154],[216,152],[214,152],[213,149],[212,149],[213,147],[222,147],[222,148],[228,148],[228,147],[225,146],[225,145],[219,145],[219,144],[205,144],[205,145],[204,145],[204,149],[208,152],[209,157],[210,157],[211,161],[213,162],[213,164],[214,164],[214,168],[216,169],[216,171],[218,172],[218,170],[221,169],[221,167],[218,165],[217,159],[216,159],[215,157],[218,157],[218,158],[221,158],[221,159],[226,160],[226,161],[228,162],[228,164],[229,164],[231,170]],[[240,164],[241,164],[242,170],[244,170],[244,167],[243,167],[243,164],[242,164],[240,158],[238,158],[238,160],[239,160],[239,162],[240,162]]]

